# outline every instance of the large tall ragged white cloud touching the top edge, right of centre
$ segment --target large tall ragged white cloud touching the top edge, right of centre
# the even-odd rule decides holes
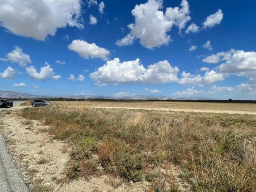
[[[171,38],[167,35],[173,25],[178,26],[179,33],[191,19],[189,5],[182,0],[181,8],[166,8],[164,14],[162,0],[148,0],[148,2],[136,5],[132,10],[135,22],[128,25],[130,33],[117,40],[116,45],[126,46],[133,44],[134,39],[140,39],[140,44],[148,49],[168,45]]]

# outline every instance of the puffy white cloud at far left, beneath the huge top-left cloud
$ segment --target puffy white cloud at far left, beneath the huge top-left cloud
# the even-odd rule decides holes
[[[6,59],[1,58],[1,60],[18,63],[21,67],[24,67],[28,63],[31,63],[30,56],[26,53],[23,53],[22,49],[18,46],[15,46],[12,52],[6,54]]]

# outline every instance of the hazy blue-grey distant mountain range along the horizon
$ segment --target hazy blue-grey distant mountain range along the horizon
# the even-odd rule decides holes
[[[74,98],[74,99],[130,99],[130,100],[211,100],[206,97],[168,97],[168,96],[148,96],[148,95],[131,95],[118,98],[102,95],[34,95],[15,91],[0,91],[1,98]]]

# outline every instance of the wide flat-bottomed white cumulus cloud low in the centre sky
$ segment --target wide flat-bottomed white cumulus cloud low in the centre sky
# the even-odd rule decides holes
[[[172,68],[168,61],[160,61],[144,68],[140,60],[120,62],[119,58],[107,61],[104,66],[90,74],[98,86],[108,84],[163,84],[178,82],[178,67]]]

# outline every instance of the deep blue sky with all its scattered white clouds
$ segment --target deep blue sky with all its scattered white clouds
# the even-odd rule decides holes
[[[255,7],[0,0],[0,90],[256,100]]]

